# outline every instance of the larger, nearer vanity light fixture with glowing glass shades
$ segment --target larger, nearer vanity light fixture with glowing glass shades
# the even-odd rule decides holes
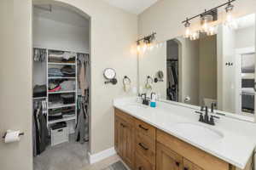
[[[205,11],[201,14],[197,14],[191,18],[187,18],[186,20],[183,20],[183,24],[185,27],[185,33],[184,37],[190,38],[191,40],[196,40],[200,37],[200,33],[205,33],[207,36],[212,36],[217,33],[217,26],[212,26],[214,23],[213,21],[218,20],[218,8],[225,7],[226,12],[226,20],[224,20],[225,23],[232,25],[233,24],[233,16],[232,11],[234,8],[234,5],[231,4],[235,2],[236,0],[229,0],[227,3],[223,3],[219,5],[218,7],[211,8],[209,10],[205,9]],[[197,17],[201,17],[201,29],[200,31],[191,31],[190,30],[190,20],[194,20]]]

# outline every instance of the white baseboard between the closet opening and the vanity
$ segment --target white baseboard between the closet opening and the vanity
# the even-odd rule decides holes
[[[109,148],[108,150],[103,150],[96,154],[90,154],[89,152],[88,156],[89,156],[90,164],[93,164],[93,163],[96,163],[97,161],[102,161],[103,159],[106,159],[109,156],[113,156],[115,154],[116,154],[116,151],[114,150],[114,148]]]

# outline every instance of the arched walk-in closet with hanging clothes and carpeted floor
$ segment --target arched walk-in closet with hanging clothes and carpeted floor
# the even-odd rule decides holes
[[[34,4],[32,53],[34,170],[79,169],[89,150],[89,17]]]

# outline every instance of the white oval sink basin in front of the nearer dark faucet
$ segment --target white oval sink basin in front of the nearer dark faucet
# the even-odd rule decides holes
[[[218,130],[195,123],[177,123],[173,129],[184,138],[201,143],[211,143],[224,138],[224,134]]]

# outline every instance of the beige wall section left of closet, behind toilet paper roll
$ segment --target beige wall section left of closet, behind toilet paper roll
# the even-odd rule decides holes
[[[32,1],[1,1],[0,20],[0,169],[32,170]],[[8,129],[20,143],[3,143]]]

